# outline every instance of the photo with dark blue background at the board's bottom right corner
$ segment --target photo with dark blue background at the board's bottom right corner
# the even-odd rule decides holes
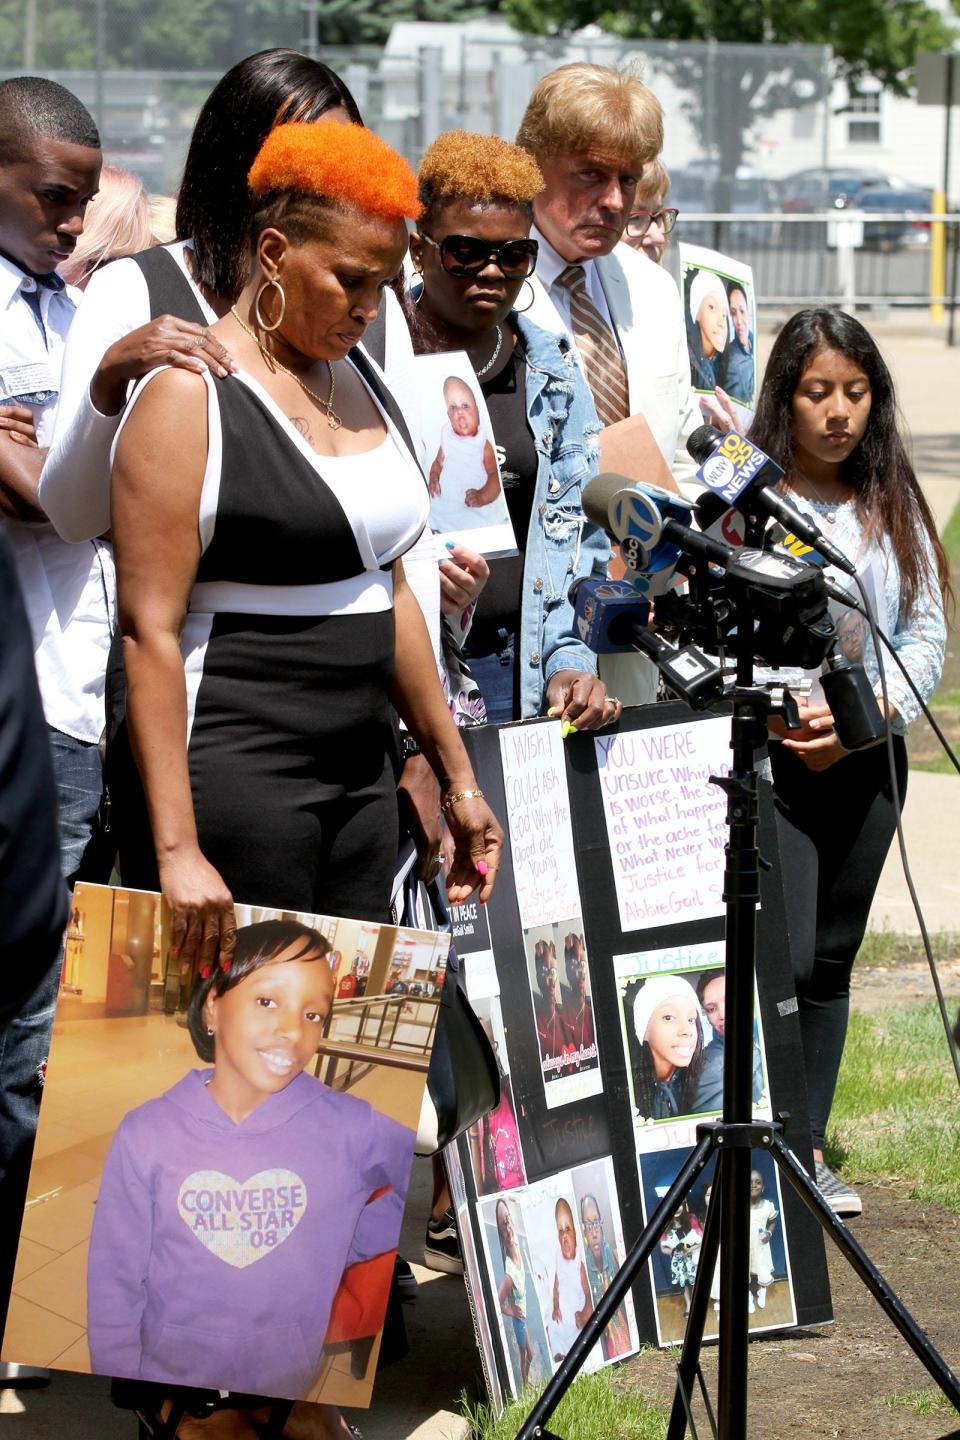
[[[649,1218],[672,1185],[689,1149],[659,1151],[639,1158],[643,1214]],[[780,1220],[780,1184],[773,1158],[751,1152],[750,1175],[750,1276],[747,1310],[750,1329],[773,1329],[796,1323],[787,1243]],[[689,1313],[694,1282],[701,1261],[707,1210],[714,1194],[714,1161],[710,1162],[691,1194],[678,1207],[659,1246],[651,1256],[651,1279],[656,1300],[656,1328],[661,1345],[682,1339]],[[707,1335],[720,1328],[720,1259],[710,1282],[711,1306],[707,1310]]]

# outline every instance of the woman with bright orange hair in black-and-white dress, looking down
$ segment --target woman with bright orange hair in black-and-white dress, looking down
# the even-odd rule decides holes
[[[154,370],[114,455],[130,737],[181,960],[229,962],[233,894],[386,919],[391,704],[440,782],[453,901],[502,835],[400,556],[427,513],[358,341],[400,271],[410,168],[371,131],[279,125],[249,173],[250,268],[214,337],[236,374]]]

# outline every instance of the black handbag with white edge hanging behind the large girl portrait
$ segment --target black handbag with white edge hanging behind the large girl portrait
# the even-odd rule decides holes
[[[450,916],[439,880],[425,890],[436,929],[449,929]],[[404,881],[403,923],[419,929],[422,922],[417,922],[417,880],[410,873]],[[468,999],[463,969],[450,939],[415,1152],[436,1155],[498,1104],[497,1054]]]

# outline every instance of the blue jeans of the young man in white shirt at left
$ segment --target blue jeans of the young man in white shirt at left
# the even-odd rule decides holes
[[[71,888],[76,880],[107,881],[112,857],[99,824],[104,789],[99,747],[59,730],[50,730],[49,737],[63,876]],[[0,1027],[0,1189],[4,1207],[10,1207],[4,1215],[4,1225],[10,1227],[26,1195],[62,966],[60,948],[19,1014]],[[3,1300],[0,1295],[0,1312]]]

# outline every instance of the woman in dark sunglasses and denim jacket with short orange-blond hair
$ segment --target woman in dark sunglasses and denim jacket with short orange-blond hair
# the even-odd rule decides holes
[[[573,580],[606,575],[610,556],[580,504],[597,471],[600,426],[570,341],[514,310],[537,264],[530,226],[540,170],[517,145],[455,130],[430,145],[417,179],[413,347],[469,356],[521,552],[492,562],[465,647],[486,717],[545,710],[579,730],[609,724],[622,706],[597,678],[569,599]],[[469,576],[455,562],[440,569],[445,595],[456,599]]]

